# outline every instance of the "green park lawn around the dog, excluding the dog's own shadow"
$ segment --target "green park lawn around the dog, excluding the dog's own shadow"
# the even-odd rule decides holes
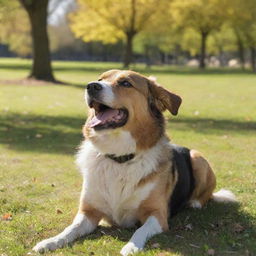
[[[30,62],[0,59],[0,255],[27,255],[40,240],[62,231],[76,213],[81,177],[74,154],[86,119],[83,86],[118,63],[54,62],[56,77],[72,85],[17,84]],[[210,160],[218,189],[231,189],[237,205],[210,202],[185,209],[170,231],[155,236],[139,255],[256,255],[256,76],[236,70],[134,69],[183,97],[167,118],[172,141]],[[57,212],[62,213],[57,213]],[[47,255],[119,255],[134,232],[99,228]],[[155,248],[156,247],[156,248]]]

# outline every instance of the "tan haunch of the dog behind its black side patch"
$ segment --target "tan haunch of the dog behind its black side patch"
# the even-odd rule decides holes
[[[212,198],[216,178],[208,161],[196,150],[190,151],[191,165],[195,179],[195,189],[190,198],[190,206],[201,208]]]

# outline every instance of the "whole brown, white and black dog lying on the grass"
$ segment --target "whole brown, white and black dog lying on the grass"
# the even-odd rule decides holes
[[[79,211],[62,233],[33,250],[63,247],[93,232],[102,219],[121,227],[140,222],[120,252],[129,255],[168,230],[168,218],[184,205],[235,201],[228,190],[213,193],[215,175],[198,151],[167,138],[162,112],[178,113],[178,95],[136,72],[110,70],[87,85],[87,103],[90,115],[77,155],[84,178]]]

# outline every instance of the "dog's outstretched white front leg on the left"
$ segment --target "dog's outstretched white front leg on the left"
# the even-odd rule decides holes
[[[100,220],[100,214],[95,214],[92,211],[80,211],[73,223],[64,229],[57,236],[45,239],[39,242],[33,250],[36,252],[53,251],[61,248],[79,237],[90,234],[95,230]]]

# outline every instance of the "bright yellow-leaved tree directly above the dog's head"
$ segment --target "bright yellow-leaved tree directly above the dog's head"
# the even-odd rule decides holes
[[[125,40],[124,67],[132,62],[135,36],[152,25],[167,0],[78,0],[71,29],[85,42]],[[163,10],[162,10],[163,11]],[[158,16],[160,17],[160,16]]]

